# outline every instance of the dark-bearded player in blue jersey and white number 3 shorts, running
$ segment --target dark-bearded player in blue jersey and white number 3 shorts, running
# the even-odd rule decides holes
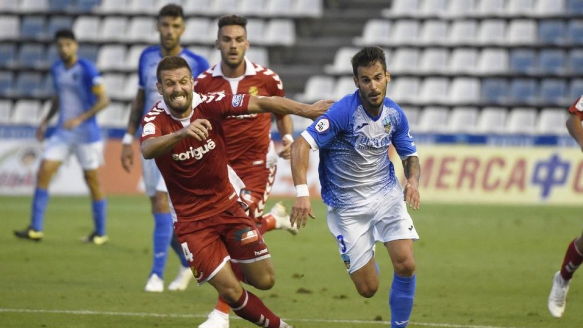
[[[365,47],[352,58],[358,90],[334,103],[291,145],[296,201],[290,220],[297,228],[314,218],[306,184],[310,149],[319,149],[322,199],[328,228],[338,242],[350,278],[360,295],[377,292],[375,243],[387,247],[394,267],[391,327],[405,327],[415,294],[413,240],[419,239],[406,204],[419,208],[420,166],[405,113],[385,97],[389,74],[379,47]],[[393,145],[401,156],[405,190],[388,156]]]

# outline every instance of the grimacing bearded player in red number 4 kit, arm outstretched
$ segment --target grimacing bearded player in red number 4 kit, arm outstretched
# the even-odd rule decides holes
[[[271,255],[229,180],[222,123],[227,116],[264,113],[315,118],[332,100],[313,105],[281,97],[201,95],[192,92],[188,63],[165,57],[157,67],[156,103],[142,120],[141,152],[155,159],[170,198],[174,231],[196,281],[209,282],[233,311],[267,328],[287,328],[240,281],[258,289],[274,284]],[[240,271],[231,270],[230,261]]]

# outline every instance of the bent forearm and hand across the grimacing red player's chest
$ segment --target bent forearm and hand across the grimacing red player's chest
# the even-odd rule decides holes
[[[142,141],[141,151],[145,159],[156,158],[171,151],[171,149],[184,138],[195,138],[202,141],[209,136],[212,126],[208,120],[199,118],[177,132],[161,137],[148,138]]]

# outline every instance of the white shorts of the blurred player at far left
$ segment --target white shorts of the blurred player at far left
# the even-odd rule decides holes
[[[75,153],[83,170],[95,170],[103,164],[103,141],[78,144],[54,134],[45,145],[43,159],[65,162],[72,153]]]

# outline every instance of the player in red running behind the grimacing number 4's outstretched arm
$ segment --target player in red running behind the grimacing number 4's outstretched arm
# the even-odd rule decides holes
[[[245,57],[249,48],[247,19],[237,15],[222,16],[218,25],[215,47],[220,51],[221,61],[198,76],[194,90],[198,93],[283,97],[279,76]],[[257,223],[259,232],[287,229],[296,234],[297,229],[291,226],[281,203],[275,204],[268,214],[263,212],[275,179],[278,155],[289,159],[293,142],[293,123],[289,115],[275,115],[275,121],[283,143],[279,154],[271,141],[270,113],[227,117],[223,121],[227,158],[245,184],[240,197],[249,206],[249,215]],[[228,328],[229,312],[229,305],[219,298],[208,320],[198,327]]]

